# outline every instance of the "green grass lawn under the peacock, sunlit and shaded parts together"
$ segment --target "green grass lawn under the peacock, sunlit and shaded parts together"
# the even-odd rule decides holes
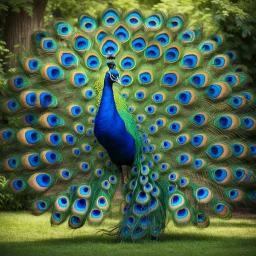
[[[101,228],[114,226],[120,218],[117,207]],[[71,230],[64,223],[51,227],[50,214],[40,217],[27,212],[0,213],[0,255],[256,255],[256,220],[211,219],[207,229],[177,228],[170,223],[160,241],[119,243],[114,237],[96,234],[85,225]]]

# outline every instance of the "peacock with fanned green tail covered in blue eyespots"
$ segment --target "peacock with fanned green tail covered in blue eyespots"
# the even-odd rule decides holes
[[[255,207],[256,94],[224,40],[179,14],[113,8],[33,33],[1,98],[6,189],[77,229],[100,225],[124,183],[109,231],[121,241]]]

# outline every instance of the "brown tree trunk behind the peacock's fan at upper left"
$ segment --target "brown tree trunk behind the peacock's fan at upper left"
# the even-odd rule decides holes
[[[48,0],[34,0],[32,17],[23,10],[19,13],[8,11],[4,25],[4,37],[6,47],[14,53],[14,57],[10,59],[7,68],[15,66],[17,53],[30,48],[31,34],[43,26],[47,2]],[[15,47],[15,45],[21,47]]]

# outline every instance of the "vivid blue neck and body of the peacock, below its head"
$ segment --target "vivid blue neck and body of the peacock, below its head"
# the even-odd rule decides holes
[[[135,141],[127,132],[125,123],[118,114],[112,86],[113,82],[110,82],[106,75],[95,118],[94,134],[116,165],[131,165],[135,156]]]

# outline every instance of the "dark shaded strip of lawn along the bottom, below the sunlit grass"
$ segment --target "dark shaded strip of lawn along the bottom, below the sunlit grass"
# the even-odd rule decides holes
[[[198,234],[165,234],[159,241],[141,241],[137,243],[120,243],[113,237],[88,235],[75,238],[45,239],[31,242],[0,242],[1,255],[130,255],[124,253],[124,249],[129,249],[131,255],[133,249],[140,248],[139,255],[152,255],[152,249],[156,250],[154,255],[160,255],[161,248],[179,246],[183,250],[195,250],[198,247],[223,247],[235,248],[242,245],[243,248],[250,248],[247,255],[253,255],[250,252],[256,252],[254,238],[229,238],[219,236],[205,236]],[[159,248],[159,249],[158,249]],[[223,247],[225,248],[225,246]],[[83,252],[83,254],[81,254]],[[104,252],[104,254],[100,254]],[[161,255],[166,255],[161,253]],[[193,254],[194,255],[194,254]],[[204,254],[206,255],[206,254]],[[224,255],[224,254],[223,254]]]

